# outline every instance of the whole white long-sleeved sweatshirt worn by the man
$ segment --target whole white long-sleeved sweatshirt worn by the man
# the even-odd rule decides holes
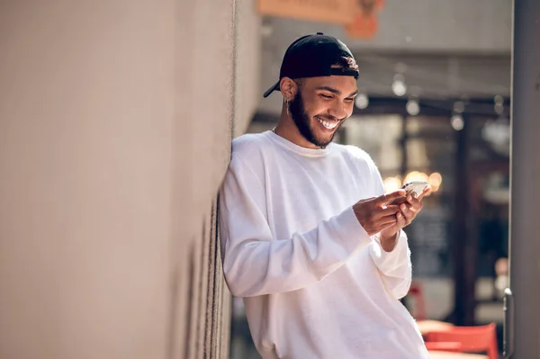
[[[407,237],[385,252],[352,210],[381,194],[360,148],[302,148],[271,131],[233,141],[220,191],[223,270],[263,358],[429,358],[399,301],[411,280]]]

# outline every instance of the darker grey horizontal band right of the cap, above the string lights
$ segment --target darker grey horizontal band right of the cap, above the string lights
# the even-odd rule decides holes
[[[485,98],[510,94],[510,57],[355,53],[358,86],[366,94],[392,95],[402,74],[408,94],[428,98]]]

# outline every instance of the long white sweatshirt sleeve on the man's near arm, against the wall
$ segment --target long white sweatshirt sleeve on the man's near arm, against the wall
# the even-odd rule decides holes
[[[307,232],[274,238],[266,217],[265,187],[233,156],[220,189],[220,241],[230,292],[250,297],[317,283],[372,238],[352,208]]]

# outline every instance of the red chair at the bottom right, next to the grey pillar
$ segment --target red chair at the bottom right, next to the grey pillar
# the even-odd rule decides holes
[[[487,352],[490,359],[498,359],[497,327],[495,323],[487,326],[453,327],[445,331],[432,331],[426,342],[454,342],[461,344],[461,352]]]

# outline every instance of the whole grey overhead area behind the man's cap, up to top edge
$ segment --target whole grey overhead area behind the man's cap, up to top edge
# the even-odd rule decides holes
[[[358,87],[368,96],[398,97],[392,83],[400,73],[407,86],[403,97],[508,98],[511,6],[507,0],[494,1],[414,0],[410,6],[387,2],[378,14],[379,33],[364,41],[349,39],[335,24],[266,16],[261,29],[260,92],[278,79],[284,51],[293,40],[323,31],[344,40],[352,50],[360,67]],[[440,11],[441,6],[447,11]],[[419,9],[425,14],[419,16]],[[278,94],[259,106],[262,112],[280,108]]]

